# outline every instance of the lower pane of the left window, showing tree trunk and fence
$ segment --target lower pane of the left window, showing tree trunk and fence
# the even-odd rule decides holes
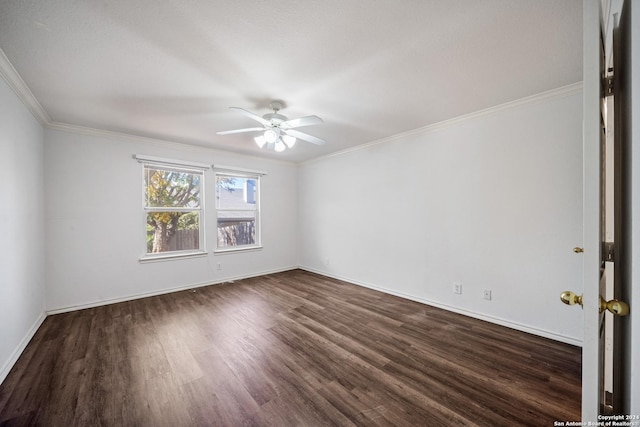
[[[200,212],[147,213],[147,253],[200,249]]]

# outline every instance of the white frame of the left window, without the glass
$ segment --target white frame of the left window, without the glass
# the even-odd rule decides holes
[[[161,157],[134,155],[134,158],[141,164],[141,201],[142,201],[142,245],[139,257],[140,262],[168,261],[183,258],[200,257],[207,255],[206,245],[206,202],[205,202],[205,172],[211,168],[210,165],[198,162],[165,159]],[[187,172],[200,176],[199,207],[172,207],[172,206],[147,206],[146,177],[145,171],[148,167],[159,170],[170,170]],[[198,212],[198,243],[197,249],[185,249],[167,251],[159,253],[149,253],[147,249],[147,215],[150,212]]]

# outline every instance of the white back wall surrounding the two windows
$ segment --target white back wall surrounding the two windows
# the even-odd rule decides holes
[[[50,312],[297,266],[296,165],[107,134],[48,129],[45,141]],[[142,172],[134,154],[267,172],[261,182],[264,249],[214,256],[210,210],[205,217],[207,257],[140,263]],[[206,204],[212,206],[213,172],[206,177]]]

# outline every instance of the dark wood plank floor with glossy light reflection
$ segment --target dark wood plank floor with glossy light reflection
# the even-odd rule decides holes
[[[49,316],[0,425],[552,426],[580,349],[294,270]]]

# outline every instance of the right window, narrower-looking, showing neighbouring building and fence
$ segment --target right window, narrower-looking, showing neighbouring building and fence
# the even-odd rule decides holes
[[[260,247],[261,173],[216,168],[218,251]]]

